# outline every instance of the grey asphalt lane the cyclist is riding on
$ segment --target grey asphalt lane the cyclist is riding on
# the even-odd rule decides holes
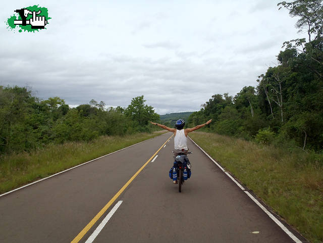
[[[294,242],[192,142],[189,148],[192,177],[181,193],[168,177],[172,139],[94,242]]]

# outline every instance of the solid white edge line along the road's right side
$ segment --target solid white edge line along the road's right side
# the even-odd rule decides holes
[[[258,200],[256,200],[250,193],[249,191],[246,191],[244,189],[244,187],[242,185],[240,185],[240,183],[238,181],[236,181],[228,172],[226,172],[221,165],[219,165],[215,160],[213,160],[201,147],[199,147],[199,145],[196,144],[196,142],[194,142],[192,140],[192,138],[188,137],[205,155],[207,155],[208,158],[210,158],[217,166],[220,167],[220,169],[225,172],[225,174],[227,176],[230,177],[230,179],[232,179],[244,192],[246,192],[246,194],[249,196],[249,198],[256,204],[258,205],[262,211],[264,211],[279,227],[281,227],[282,230],[284,230],[284,232],[291,237],[296,243],[302,243],[301,240],[299,240],[291,231],[289,231],[282,223],[281,221],[279,221],[272,213],[270,213],[265,207],[262,206],[261,203],[259,203]]]

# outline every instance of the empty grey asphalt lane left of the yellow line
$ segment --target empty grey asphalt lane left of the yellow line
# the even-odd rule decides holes
[[[170,136],[0,197],[0,242],[70,242]]]

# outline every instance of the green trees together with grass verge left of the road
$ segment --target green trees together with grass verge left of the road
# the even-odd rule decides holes
[[[125,108],[94,100],[70,108],[28,87],[0,86],[0,193],[160,134],[145,102],[142,95]]]

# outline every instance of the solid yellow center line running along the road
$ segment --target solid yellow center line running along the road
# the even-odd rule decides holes
[[[99,220],[99,218],[105,213],[105,211],[107,209],[109,209],[109,207],[117,200],[117,198],[119,198],[119,196],[121,195],[121,193],[136,178],[136,176],[143,170],[143,168],[146,167],[146,165],[150,162],[150,160],[161,150],[161,148],[163,148],[163,146],[171,139],[172,136],[170,136],[170,138],[167,139],[167,141],[163,145],[161,145],[161,147],[156,151],[156,153],[154,153],[150,157],[150,159],[147,160],[147,162],[130,178],[130,180],[128,180],[128,182],[117,192],[117,194],[109,201],[109,203],[107,203],[100,210],[100,212],[98,212],[97,215],[95,215],[95,217],[84,227],[84,229],[82,229],[82,231],[79,232],[79,234],[71,241],[71,243],[77,243],[77,242],[79,242],[82,239],[82,237],[87,233],[87,231],[90,230],[90,228],[96,223],[97,220]]]

